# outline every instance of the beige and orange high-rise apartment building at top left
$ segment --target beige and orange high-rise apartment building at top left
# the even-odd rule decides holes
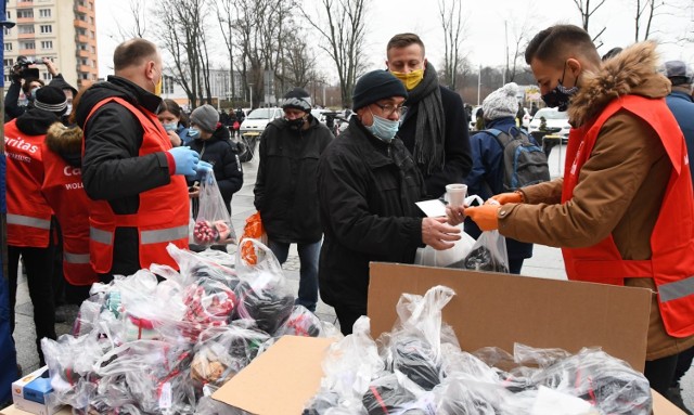
[[[67,83],[79,89],[97,81],[97,18],[94,0],[5,0],[8,21],[16,26],[4,29],[4,86],[8,68],[24,55],[40,61],[50,57]],[[51,75],[38,65],[47,82]]]

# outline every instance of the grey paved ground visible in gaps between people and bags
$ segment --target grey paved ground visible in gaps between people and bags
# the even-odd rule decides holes
[[[562,148],[562,160],[560,160],[560,152],[555,147],[550,155],[550,171],[552,177],[560,174],[560,169],[563,168],[563,158],[565,156],[566,147]],[[239,193],[236,193],[232,200],[232,222],[239,236],[243,232],[243,225],[245,219],[255,212],[253,206],[253,185],[256,179],[257,159],[250,160],[244,164],[244,186]],[[234,252],[234,247],[230,246],[230,252]],[[293,245],[290,250],[290,257],[283,267],[285,275],[290,283],[298,291],[298,270],[299,261],[296,254],[296,247]],[[535,246],[535,254],[532,258],[526,260],[523,267],[524,275],[538,276],[547,278],[565,280],[566,273],[564,272],[564,261],[562,259],[558,249],[550,248],[547,246]],[[60,313],[66,315],[66,323],[56,324],[56,332],[59,335],[68,333],[72,327],[72,322],[77,315],[76,307],[61,307]],[[29,300],[26,281],[21,280],[17,289],[17,307],[16,307],[16,329],[14,333],[14,339],[17,349],[17,361],[24,368],[24,373],[30,373],[38,368],[39,361],[38,355],[34,347],[34,321],[33,321],[33,306]],[[323,321],[336,323],[335,312],[332,307],[320,302],[317,308],[317,315]],[[3,368],[4,369],[4,368]],[[682,380],[683,385],[683,399],[687,407],[694,410],[694,371],[690,371]]]

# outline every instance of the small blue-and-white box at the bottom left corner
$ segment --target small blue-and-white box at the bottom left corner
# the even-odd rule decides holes
[[[37,415],[53,415],[63,407],[53,397],[48,366],[12,382],[12,402],[17,408]]]

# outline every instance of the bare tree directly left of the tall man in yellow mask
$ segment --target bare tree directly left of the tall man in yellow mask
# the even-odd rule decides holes
[[[367,0],[320,0],[324,22],[314,11],[301,8],[301,14],[320,34],[323,50],[335,64],[343,106],[350,106],[351,90],[363,69]]]

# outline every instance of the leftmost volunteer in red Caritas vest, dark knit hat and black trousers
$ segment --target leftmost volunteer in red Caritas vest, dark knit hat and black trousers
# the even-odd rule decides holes
[[[8,272],[10,275],[10,321],[14,330],[20,256],[24,258],[29,297],[34,304],[36,347],[41,365],[41,338],[55,339],[55,303],[51,277],[53,211],[41,194],[43,163],[41,144],[46,131],[67,108],[65,94],[57,88],[36,91],[34,107],[4,125],[8,163]]]

